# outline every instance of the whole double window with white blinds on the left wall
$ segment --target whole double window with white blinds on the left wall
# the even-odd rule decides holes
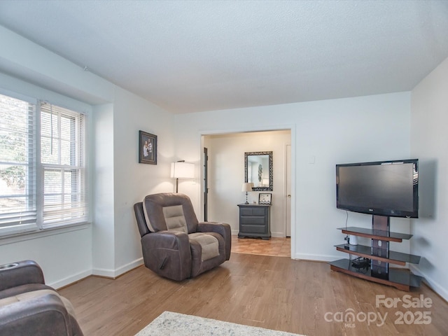
[[[87,221],[85,115],[0,94],[0,235]]]

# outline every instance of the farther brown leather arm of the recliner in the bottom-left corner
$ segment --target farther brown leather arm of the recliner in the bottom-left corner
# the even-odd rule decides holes
[[[24,260],[0,265],[0,290],[28,283],[45,283],[42,269],[36,262]]]

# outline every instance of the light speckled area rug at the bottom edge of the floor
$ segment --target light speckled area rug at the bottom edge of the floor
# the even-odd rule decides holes
[[[211,318],[164,311],[135,336],[297,336],[290,332],[250,327]],[[303,335],[298,335],[303,336]]]

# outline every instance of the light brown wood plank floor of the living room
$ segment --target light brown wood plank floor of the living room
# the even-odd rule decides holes
[[[132,336],[163,311],[308,336],[448,335],[448,304],[426,285],[402,292],[333,272],[325,262],[270,255],[233,252],[220,267],[181,282],[138,267],[115,280],[89,276],[59,293],[71,300],[85,336]],[[375,301],[407,294],[429,298],[431,307],[405,309],[399,302],[393,309]],[[336,321],[349,309],[356,321]],[[430,323],[421,324],[425,311]],[[387,314],[386,323],[362,321],[374,314]]]

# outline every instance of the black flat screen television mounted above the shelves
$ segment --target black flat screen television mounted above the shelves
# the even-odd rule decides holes
[[[336,207],[388,217],[419,217],[419,160],[336,165]]]

